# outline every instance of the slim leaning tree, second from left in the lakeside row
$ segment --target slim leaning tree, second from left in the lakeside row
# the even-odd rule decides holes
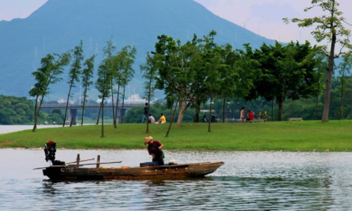
[[[65,126],[66,124],[66,115],[67,115],[67,110],[69,108],[69,99],[71,96],[71,90],[73,87],[76,87],[76,82],[80,81],[80,74],[82,72],[82,61],[84,59],[83,56],[83,41],[80,41],[80,44],[77,45],[73,50],[73,61],[71,64],[71,69],[69,71],[69,81],[67,82],[69,84],[69,94],[67,94],[67,100],[66,100],[66,110],[65,110],[65,115],[64,115],[64,123],[62,126]],[[72,125],[73,119],[69,119],[71,122],[70,126]]]

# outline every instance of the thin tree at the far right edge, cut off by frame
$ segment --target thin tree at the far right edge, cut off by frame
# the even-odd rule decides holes
[[[340,99],[341,99],[341,106],[339,109],[339,120],[344,119],[344,88],[346,83],[346,74],[349,74],[352,68],[352,51],[342,55],[342,62],[339,64],[339,73],[340,73],[340,81],[341,81],[341,88],[340,88]]]

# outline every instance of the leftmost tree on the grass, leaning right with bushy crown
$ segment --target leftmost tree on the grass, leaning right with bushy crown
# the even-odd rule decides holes
[[[56,58],[55,58],[56,57]],[[69,64],[71,55],[69,52],[59,54],[48,54],[46,57],[41,59],[41,68],[38,68],[37,71],[34,71],[32,75],[34,75],[36,79],[36,84],[34,88],[29,91],[31,96],[36,96],[36,105],[34,110],[34,126],[32,131],[36,131],[36,124],[38,122],[39,113],[41,111],[41,105],[43,103],[43,99],[50,92],[50,85],[55,84],[62,80],[59,75],[64,71],[64,66]],[[38,103],[38,104],[37,104]]]

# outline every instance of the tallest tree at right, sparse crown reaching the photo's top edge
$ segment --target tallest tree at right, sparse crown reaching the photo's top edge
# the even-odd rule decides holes
[[[293,22],[297,23],[299,27],[311,27],[316,25],[316,29],[311,31],[318,43],[322,41],[328,41],[330,43],[330,49],[328,45],[322,45],[321,50],[329,58],[328,67],[326,70],[328,74],[326,76],[325,94],[324,94],[324,108],[323,115],[321,118],[322,122],[328,122],[329,120],[329,110],[330,110],[330,89],[332,81],[332,73],[334,71],[334,59],[342,54],[343,48],[352,49],[352,45],[349,41],[351,36],[351,31],[344,27],[346,19],[342,16],[343,13],[338,9],[339,3],[337,0],[312,0],[312,6],[305,8],[304,11],[309,11],[312,8],[321,8],[324,15],[311,17],[311,18],[293,18],[288,20],[287,17],[283,18],[286,23]],[[335,54],[336,45],[342,46],[338,54]]]

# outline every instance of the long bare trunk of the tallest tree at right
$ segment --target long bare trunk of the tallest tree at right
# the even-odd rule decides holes
[[[335,30],[335,29],[332,29],[332,30]],[[336,32],[332,32],[328,74],[326,75],[324,108],[323,108],[323,115],[321,117],[321,122],[328,122],[329,121],[330,90],[331,90],[332,72],[334,71],[335,43],[336,43]]]

